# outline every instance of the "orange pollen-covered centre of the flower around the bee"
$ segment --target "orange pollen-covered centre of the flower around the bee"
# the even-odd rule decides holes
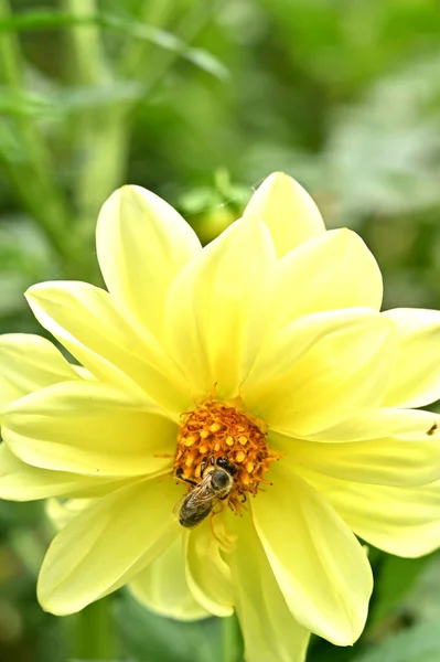
[[[265,476],[280,456],[269,449],[267,441],[262,420],[211,395],[181,415],[173,473],[197,483],[211,458],[214,463],[226,458],[237,470],[228,505],[239,513],[247,498],[258,493],[260,483],[270,484]]]

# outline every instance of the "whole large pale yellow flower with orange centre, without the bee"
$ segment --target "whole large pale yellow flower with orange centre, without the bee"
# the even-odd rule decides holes
[[[0,495],[81,499],[44,559],[43,608],[129,584],[175,618],[235,608],[250,661],[300,662],[309,631],[351,644],[373,585],[354,534],[403,556],[440,544],[440,420],[411,409],[440,397],[440,313],[379,313],[365,244],[325,232],[285,174],[203,249],[164,201],[125,186],[97,253],[108,292],[28,292],[83,371],[34,337],[0,342],[18,384]],[[218,458],[235,468],[226,499],[181,526],[175,503],[202,476],[212,489]]]

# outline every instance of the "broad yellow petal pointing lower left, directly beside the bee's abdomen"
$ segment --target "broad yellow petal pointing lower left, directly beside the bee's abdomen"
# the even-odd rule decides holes
[[[64,616],[127,584],[179,534],[176,487],[142,480],[97,500],[53,540],[40,572],[37,597]]]

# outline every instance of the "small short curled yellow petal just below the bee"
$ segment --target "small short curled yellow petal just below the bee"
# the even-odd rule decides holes
[[[230,570],[222,557],[211,521],[185,533],[185,538],[186,577],[192,594],[211,613],[230,616],[234,612]]]

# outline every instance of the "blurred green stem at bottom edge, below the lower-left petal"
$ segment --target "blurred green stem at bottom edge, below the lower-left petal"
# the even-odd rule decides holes
[[[84,662],[117,659],[117,642],[109,609],[110,604],[111,596],[107,596],[93,602],[74,617],[71,659]]]

